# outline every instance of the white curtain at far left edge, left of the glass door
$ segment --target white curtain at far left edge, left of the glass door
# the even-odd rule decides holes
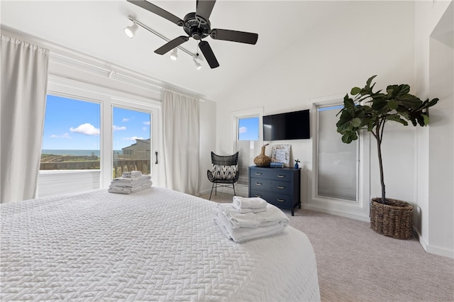
[[[49,50],[1,35],[0,202],[35,198]]]

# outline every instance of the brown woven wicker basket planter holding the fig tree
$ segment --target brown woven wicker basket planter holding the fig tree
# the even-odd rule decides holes
[[[409,239],[413,235],[413,206],[405,201],[372,198],[370,203],[370,228],[375,232],[397,238]]]

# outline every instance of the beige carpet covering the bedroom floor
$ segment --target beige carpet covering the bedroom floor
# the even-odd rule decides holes
[[[218,192],[211,200],[232,197]],[[454,259],[426,253],[416,239],[385,237],[369,223],[326,213],[284,212],[314,246],[321,301],[454,301]]]

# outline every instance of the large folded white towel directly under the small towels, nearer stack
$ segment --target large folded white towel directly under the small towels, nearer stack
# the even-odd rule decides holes
[[[260,213],[240,213],[231,203],[218,203],[214,210],[215,216],[221,211],[228,219],[232,228],[257,228],[259,226],[280,223],[289,224],[289,218],[277,206],[267,203],[267,211]]]

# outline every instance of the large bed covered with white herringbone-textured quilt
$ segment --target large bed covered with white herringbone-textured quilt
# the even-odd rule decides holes
[[[216,203],[151,187],[1,204],[1,301],[319,301],[292,227],[236,243]]]

